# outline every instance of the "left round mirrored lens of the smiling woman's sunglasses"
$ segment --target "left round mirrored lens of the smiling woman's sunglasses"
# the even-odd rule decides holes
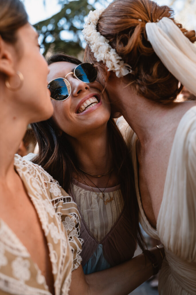
[[[70,95],[70,85],[66,79],[56,78],[48,84],[51,98],[55,100],[65,100]]]

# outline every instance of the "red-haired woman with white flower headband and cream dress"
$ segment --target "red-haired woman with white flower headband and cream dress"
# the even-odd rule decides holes
[[[143,229],[165,246],[160,294],[196,294],[195,31],[149,0],[117,0],[89,14],[86,61],[123,114]],[[103,78],[107,80],[103,81]],[[134,132],[133,132],[134,130]]]

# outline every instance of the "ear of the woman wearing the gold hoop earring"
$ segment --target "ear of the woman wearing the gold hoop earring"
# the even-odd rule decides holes
[[[16,74],[13,58],[14,49],[12,47],[0,36],[0,73],[6,76],[14,76]]]

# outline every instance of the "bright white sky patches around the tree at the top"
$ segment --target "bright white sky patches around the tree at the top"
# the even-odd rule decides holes
[[[111,1],[112,0],[108,0],[108,3]],[[171,2],[173,2],[172,0],[155,1],[158,2],[158,4],[160,5],[169,5]],[[45,0],[45,6],[43,5],[43,0],[23,0],[23,2],[26,7],[26,11],[29,14],[29,22],[31,24],[35,24],[43,19],[47,19],[48,17],[51,17],[52,15],[56,14],[61,10],[61,5],[58,4],[58,0]],[[94,0],[88,0],[88,2],[94,3]],[[189,1],[193,3],[192,5],[189,5],[189,7],[186,5],[187,2],[188,1],[185,0],[176,0],[172,7],[177,14],[177,18],[180,12],[180,21],[185,27],[196,30],[196,0]],[[100,4],[97,4],[97,6],[99,7],[96,8],[103,7],[100,6]]]

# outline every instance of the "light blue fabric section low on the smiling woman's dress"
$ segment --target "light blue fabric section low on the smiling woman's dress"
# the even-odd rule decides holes
[[[93,253],[91,258],[83,266],[83,271],[85,275],[89,273],[94,273],[96,271],[103,271],[104,269],[110,268],[110,264],[103,256],[103,246],[98,245],[96,251]]]

